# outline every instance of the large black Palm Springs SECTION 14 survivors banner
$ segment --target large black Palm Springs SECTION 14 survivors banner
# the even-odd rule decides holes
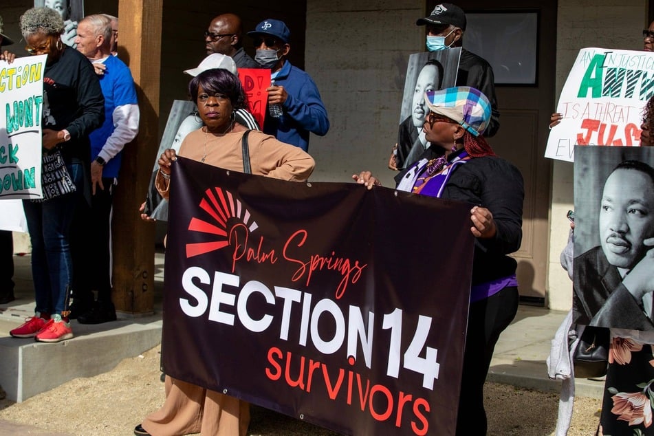
[[[184,157],[172,171],[167,375],[340,433],[455,434],[468,204]]]

